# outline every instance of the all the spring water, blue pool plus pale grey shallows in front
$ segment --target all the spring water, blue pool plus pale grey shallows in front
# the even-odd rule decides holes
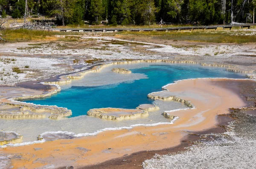
[[[131,74],[118,74],[112,68],[126,68]],[[62,85],[61,92],[39,100],[26,102],[41,105],[57,105],[72,110],[71,118],[63,120],[30,119],[0,120],[0,130],[16,131],[23,135],[23,141],[34,141],[47,131],[68,131],[75,133],[95,132],[109,127],[125,127],[132,124],[154,124],[169,122],[161,115],[166,110],[186,108],[175,101],[152,101],[147,94],[160,91],[161,87],[180,79],[203,77],[244,78],[244,75],[227,72],[222,68],[200,65],[137,63],[130,65],[111,65],[100,73],[89,73],[83,79]],[[87,116],[91,108],[121,107],[136,108],[139,104],[157,104],[160,110],[150,112],[147,118],[111,121]]]

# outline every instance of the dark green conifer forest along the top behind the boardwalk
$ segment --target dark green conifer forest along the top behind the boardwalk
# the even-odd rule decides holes
[[[58,25],[150,25],[166,23],[200,25],[231,22],[231,1],[225,0],[28,0],[30,16],[53,17]],[[1,10],[23,17],[25,0],[0,0]],[[233,21],[252,23],[256,0],[233,0]],[[4,15],[4,14],[2,14]]]

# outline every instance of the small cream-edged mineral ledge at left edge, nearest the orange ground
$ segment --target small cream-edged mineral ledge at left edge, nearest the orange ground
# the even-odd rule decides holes
[[[17,132],[0,132],[0,146],[22,142],[22,135]]]

